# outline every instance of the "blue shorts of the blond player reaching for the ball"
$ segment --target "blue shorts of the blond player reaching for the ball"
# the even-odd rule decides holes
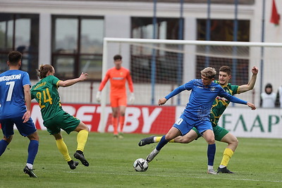
[[[176,127],[182,135],[187,134],[192,127],[196,127],[198,132],[202,134],[206,130],[213,130],[212,123],[209,119],[207,120],[193,120],[192,118],[188,118],[185,115],[180,115],[180,118],[176,120],[173,127]]]

